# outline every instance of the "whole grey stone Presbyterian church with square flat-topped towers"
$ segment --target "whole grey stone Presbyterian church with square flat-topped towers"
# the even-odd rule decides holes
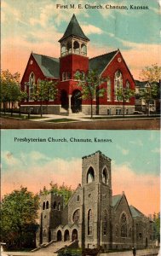
[[[82,158],[82,185],[66,206],[63,197],[41,195],[37,247],[78,241],[79,247],[145,248],[152,245],[152,220],[129,206],[124,192],[112,195],[111,159],[97,151]]]

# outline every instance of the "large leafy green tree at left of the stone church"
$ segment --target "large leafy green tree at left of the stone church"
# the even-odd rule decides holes
[[[20,187],[11,194],[4,195],[1,202],[1,241],[8,247],[32,246],[32,238],[37,224],[38,195]],[[26,241],[26,237],[30,241]]]

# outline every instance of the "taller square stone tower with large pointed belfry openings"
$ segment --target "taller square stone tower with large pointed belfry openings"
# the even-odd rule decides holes
[[[101,151],[83,157],[83,247],[111,247],[111,160]]]

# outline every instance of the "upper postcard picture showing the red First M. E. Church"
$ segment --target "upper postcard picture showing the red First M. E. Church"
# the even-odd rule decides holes
[[[160,129],[160,0],[3,0],[1,129]]]

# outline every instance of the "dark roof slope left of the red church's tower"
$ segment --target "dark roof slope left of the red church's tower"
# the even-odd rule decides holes
[[[32,53],[35,61],[42,70],[45,77],[59,78],[60,76],[60,60],[45,55],[37,55]]]

